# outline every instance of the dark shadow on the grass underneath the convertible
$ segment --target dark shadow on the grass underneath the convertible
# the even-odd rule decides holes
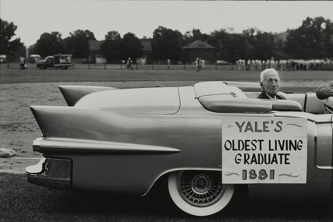
[[[46,192],[54,192],[46,191]],[[60,191],[52,196],[53,211],[74,214],[100,214],[110,217],[123,215],[148,216],[151,218],[198,219],[179,210],[172,202],[168,192],[150,193],[147,196],[120,196],[93,192]],[[244,200],[244,199],[243,199]],[[330,220],[333,205],[328,204],[250,204],[246,200],[233,203],[219,213],[205,217],[206,220]]]

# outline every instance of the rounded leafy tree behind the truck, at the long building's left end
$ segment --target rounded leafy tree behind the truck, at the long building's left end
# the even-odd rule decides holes
[[[87,58],[89,54],[89,40],[96,40],[94,33],[89,30],[75,30],[64,39],[68,51],[76,58]]]

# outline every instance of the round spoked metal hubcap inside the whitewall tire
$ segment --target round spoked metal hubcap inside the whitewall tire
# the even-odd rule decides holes
[[[217,202],[225,191],[221,182],[221,173],[217,171],[180,171],[177,189],[182,199],[193,206],[206,207]]]

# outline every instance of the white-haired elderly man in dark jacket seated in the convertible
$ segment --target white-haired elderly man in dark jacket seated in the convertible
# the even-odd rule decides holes
[[[277,94],[279,91],[279,74],[274,68],[267,68],[260,73],[260,86],[262,92],[257,98],[270,100],[285,100],[285,97]]]

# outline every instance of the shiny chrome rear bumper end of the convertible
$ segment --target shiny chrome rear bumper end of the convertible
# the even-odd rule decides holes
[[[28,181],[32,184],[55,189],[71,188],[71,160],[41,158],[34,166],[26,167]]]

